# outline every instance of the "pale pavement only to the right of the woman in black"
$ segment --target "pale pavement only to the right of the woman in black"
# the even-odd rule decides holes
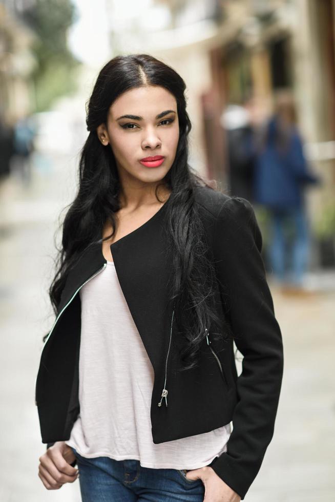
[[[335,500],[335,291],[307,298],[272,290],[284,342],[275,434],[248,502]]]

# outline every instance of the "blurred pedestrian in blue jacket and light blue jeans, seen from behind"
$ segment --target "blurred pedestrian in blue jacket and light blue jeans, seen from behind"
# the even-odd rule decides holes
[[[254,145],[254,201],[268,210],[268,261],[279,284],[299,292],[310,246],[305,189],[320,180],[309,170],[289,92],[278,93],[275,113]]]

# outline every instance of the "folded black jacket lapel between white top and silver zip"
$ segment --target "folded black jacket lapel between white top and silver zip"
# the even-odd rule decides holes
[[[157,371],[158,368],[161,370],[161,361],[168,349],[172,314],[164,216],[165,212],[160,210],[159,214],[135,232],[111,245],[124,298],[149,359]]]

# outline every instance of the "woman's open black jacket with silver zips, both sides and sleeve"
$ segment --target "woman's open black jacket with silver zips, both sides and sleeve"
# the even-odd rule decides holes
[[[283,372],[281,332],[260,254],[262,237],[248,201],[208,187],[196,189],[208,256],[217,274],[217,312],[232,328],[244,356],[243,370],[237,377],[232,339],[211,341],[210,327],[212,343],[204,340],[200,365],[178,372],[178,352],[184,342],[177,336],[168,300],[171,263],[163,232],[169,201],[111,245],[120,286],[154,368],[153,442],[209,432],[233,421],[227,451],[211,466],[243,499],[273,436]],[[69,439],[79,413],[78,291],[105,266],[100,244],[78,260],[68,274],[41,354],[36,404],[42,441],[48,446]],[[163,390],[168,392],[166,399]]]

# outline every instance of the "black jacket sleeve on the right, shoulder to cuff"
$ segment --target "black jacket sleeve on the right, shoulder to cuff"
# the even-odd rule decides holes
[[[213,251],[227,319],[243,355],[227,451],[211,467],[243,499],[274,433],[283,346],[261,257],[262,236],[250,203],[231,197],[216,217]]]

